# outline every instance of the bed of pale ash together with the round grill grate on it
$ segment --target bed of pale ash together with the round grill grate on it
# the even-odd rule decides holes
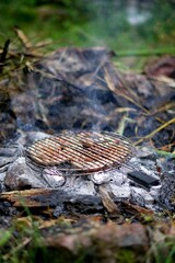
[[[89,199],[92,205],[98,196],[97,203],[104,198],[113,205],[127,201],[155,211],[174,209],[170,203],[174,183],[168,175],[161,176],[159,169],[163,164],[158,163],[153,152],[137,150],[126,137],[90,130],[43,134],[43,139],[37,132],[28,135],[27,141],[34,141],[20,153],[19,149],[15,153],[14,148],[9,148],[9,155],[12,152],[15,158],[8,157],[4,148],[8,188],[58,191],[62,193],[61,203],[73,198],[75,203]]]

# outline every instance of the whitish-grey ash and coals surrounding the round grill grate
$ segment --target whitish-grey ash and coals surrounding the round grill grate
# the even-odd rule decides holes
[[[4,191],[5,184],[8,190],[21,190],[28,187],[44,188],[60,188],[71,193],[72,199],[77,195],[96,196],[97,185],[105,185],[108,193],[114,197],[114,201],[131,201],[144,207],[156,209],[156,204],[167,204],[168,198],[175,192],[175,168],[167,160],[162,162],[158,159],[153,151],[144,148],[136,151],[136,157],[120,169],[97,172],[85,176],[62,176],[56,167],[46,168],[35,171],[31,169],[24,157],[19,157],[23,153],[27,146],[35,140],[49,137],[44,133],[26,133],[22,138],[18,138],[14,144],[9,144],[8,147],[0,148],[0,183]],[[18,142],[18,144],[16,144]],[[19,148],[22,150],[19,150]],[[22,146],[22,147],[21,147]],[[141,157],[139,157],[141,155]],[[148,155],[148,156],[147,156]],[[161,174],[158,173],[156,167],[161,167]],[[128,179],[127,173],[133,170],[140,170],[155,179],[161,179],[161,184],[153,186],[150,190],[137,185],[136,182]],[[133,185],[135,184],[135,185]]]

